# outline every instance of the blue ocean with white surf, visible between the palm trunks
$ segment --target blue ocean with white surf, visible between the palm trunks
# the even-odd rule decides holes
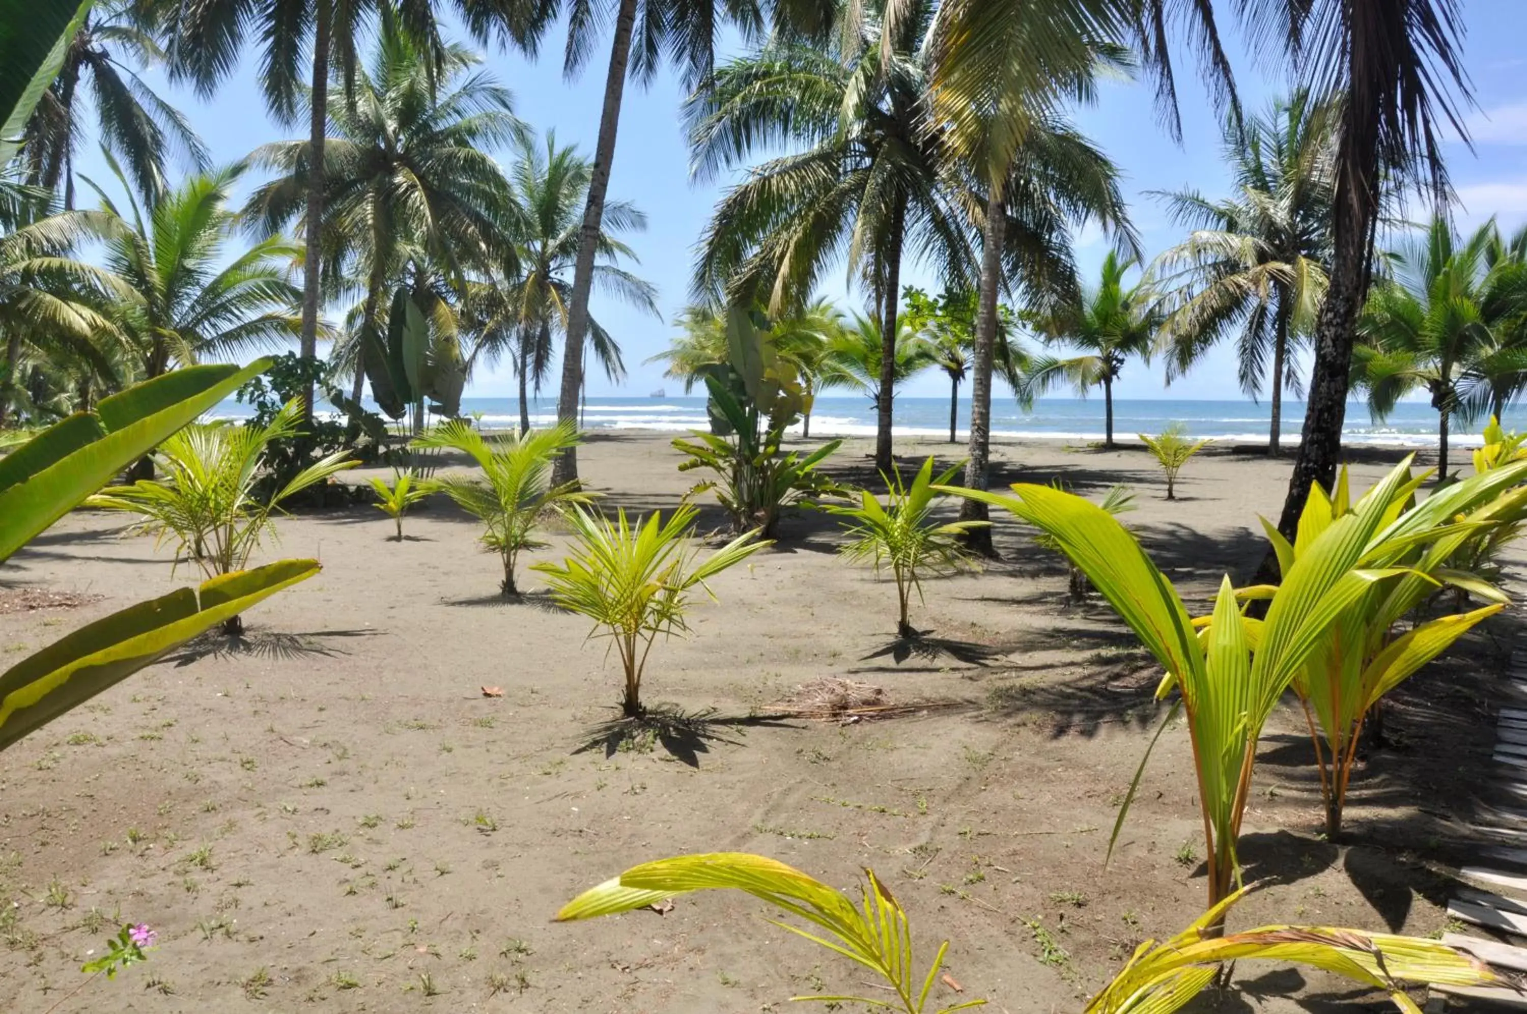
[[[481,415],[487,429],[507,429],[519,425],[519,405],[515,399],[463,399],[461,411]],[[224,402],[214,412],[223,418],[241,418],[249,408],[237,402]],[[936,397],[896,399],[895,432],[916,437],[948,435],[950,403]],[[970,420],[970,402],[960,402],[960,435]],[[1116,399],[1113,402],[1113,434],[1130,438],[1135,434],[1157,434],[1173,423],[1180,423],[1193,437],[1211,437],[1225,443],[1264,443],[1270,426],[1267,403],[1260,405],[1206,400],[1171,399]],[[534,400],[530,405],[530,421],[542,426],[556,421],[556,402]],[[1513,406],[1501,420],[1507,429],[1527,428],[1527,406]],[[1287,443],[1299,440],[1304,425],[1304,403],[1283,403],[1283,438]],[[705,429],[705,399],[701,396],[615,396],[591,397],[583,415],[586,429],[635,429],[658,432],[686,432]],[[1454,418],[1454,446],[1478,446],[1483,420],[1463,423]],[[800,426],[796,426],[799,432]],[[991,408],[991,431],[994,437],[1051,437],[1061,440],[1102,440],[1102,399],[1043,399],[1032,412],[1022,411],[1011,397],[997,397]],[[864,437],[875,434],[875,409],[866,397],[818,397],[811,415],[814,437]],[[1437,444],[1437,412],[1425,402],[1406,402],[1382,423],[1368,417],[1367,406],[1347,406],[1347,421],[1342,438],[1350,444],[1434,447]]]

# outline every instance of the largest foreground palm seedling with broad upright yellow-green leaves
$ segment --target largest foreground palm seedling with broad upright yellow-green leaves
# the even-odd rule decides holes
[[[1382,620],[1383,602],[1403,594],[1400,585],[1414,576],[1416,557],[1431,551],[1423,547],[1457,531],[1460,513],[1498,498],[1527,476],[1527,461],[1519,461],[1438,490],[1406,510],[1420,484],[1409,464],[1409,458],[1402,461],[1339,516],[1333,510],[1312,512],[1309,524],[1319,530],[1310,533],[1303,553],[1275,541],[1278,586],[1237,591],[1225,577],[1212,615],[1199,618],[1188,615],[1177,589],[1135,536],[1096,504],[1048,486],[1017,484],[1012,496],[950,489],[1002,507],[1054,538],[1161,663],[1167,675],[1156,695],[1165,698],[1176,690],[1188,718],[1209,907],[1238,883],[1237,840],[1251,799],[1257,745],[1284,692],[1324,669],[1327,652],[1342,660],[1344,672],[1361,672],[1362,647],[1347,638],[1348,625],[1376,617]],[[1245,614],[1248,599],[1267,600],[1263,618]],[[1119,822],[1138,785],[1136,777],[1119,808]]]

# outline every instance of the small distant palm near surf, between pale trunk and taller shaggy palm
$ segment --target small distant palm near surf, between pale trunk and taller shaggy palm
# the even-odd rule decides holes
[[[1023,377],[1028,397],[1038,397],[1061,382],[1075,386],[1081,397],[1101,386],[1102,446],[1109,449],[1113,447],[1113,382],[1119,379],[1130,356],[1150,362],[1156,330],[1161,327],[1145,283],[1124,287],[1124,275],[1133,266],[1133,260],[1119,260],[1110,252],[1102,260],[1102,276],[1096,289],[1084,293],[1080,304],[1040,321],[1046,341],[1061,341],[1084,351],[1066,359],[1035,357]]]

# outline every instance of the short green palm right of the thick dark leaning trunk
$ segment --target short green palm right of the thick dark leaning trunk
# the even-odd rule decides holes
[[[1495,345],[1493,331],[1522,302],[1490,299],[1498,286],[1487,253],[1495,223],[1458,237],[1437,215],[1425,238],[1385,257],[1387,273],[1358,318],[1353,383],[1368,394],[1368,409],[1383,418],[1396,402],[1425,388],[1437,409],[1437,481],[1448,480],[1448,435],[1454,415],[1471,418],[1480,408],[1461,397],[1464,379]],[[1510,305],[1516,302],[1516,305]]]

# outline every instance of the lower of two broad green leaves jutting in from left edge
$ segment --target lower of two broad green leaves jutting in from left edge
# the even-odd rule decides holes
[[[281,560],[223,574],[113,612],[49,644],[0,675],[0,750],[318,571],[318,560]]]

